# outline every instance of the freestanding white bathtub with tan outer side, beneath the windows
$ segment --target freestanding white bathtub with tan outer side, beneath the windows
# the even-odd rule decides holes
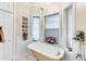
[[[64,56],[64,50],[59,48],[60,54],[58,55],[54,46],[46,42],[33,42],[28,46],[36,60],[40,61],[54,61],[62,60]]]

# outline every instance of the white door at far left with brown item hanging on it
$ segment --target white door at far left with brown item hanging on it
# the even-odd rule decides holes
[[[3,27],[4,42],[0,42],[0,60],[13,59],[13,14],[0,11],[0,26]]]

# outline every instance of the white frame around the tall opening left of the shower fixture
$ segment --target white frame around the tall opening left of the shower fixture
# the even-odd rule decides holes
[[[75,27],[75,31],[76,31],[76,3],[72,2],[70,4],[67,4],[64,9],[63,9],[63,17],[64,17],[64,22],[65,22],[65,47],[69,49],[67,47],[67,22],[66,22],[66,10],[70,9],[72,7],[72,11],[73,11],[73,21],[75,22],[74,27]]]

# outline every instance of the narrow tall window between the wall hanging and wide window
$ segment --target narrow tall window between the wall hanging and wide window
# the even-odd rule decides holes
[[[39,16],[33,17],[33,41],[39,40]]]

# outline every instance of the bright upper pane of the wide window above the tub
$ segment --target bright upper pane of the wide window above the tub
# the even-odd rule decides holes
[[[46,16],[46,28],[59,28],[59,13]]]

